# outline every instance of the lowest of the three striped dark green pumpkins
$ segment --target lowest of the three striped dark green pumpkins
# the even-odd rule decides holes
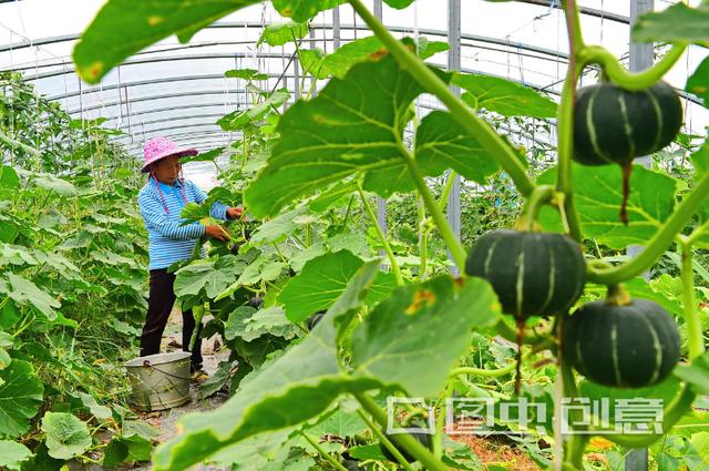
[[[643,388],[667,378],[679,361],[679,334],[656,303],[634,299],[580,307],[564,322],[564,358],[590,381]]]

